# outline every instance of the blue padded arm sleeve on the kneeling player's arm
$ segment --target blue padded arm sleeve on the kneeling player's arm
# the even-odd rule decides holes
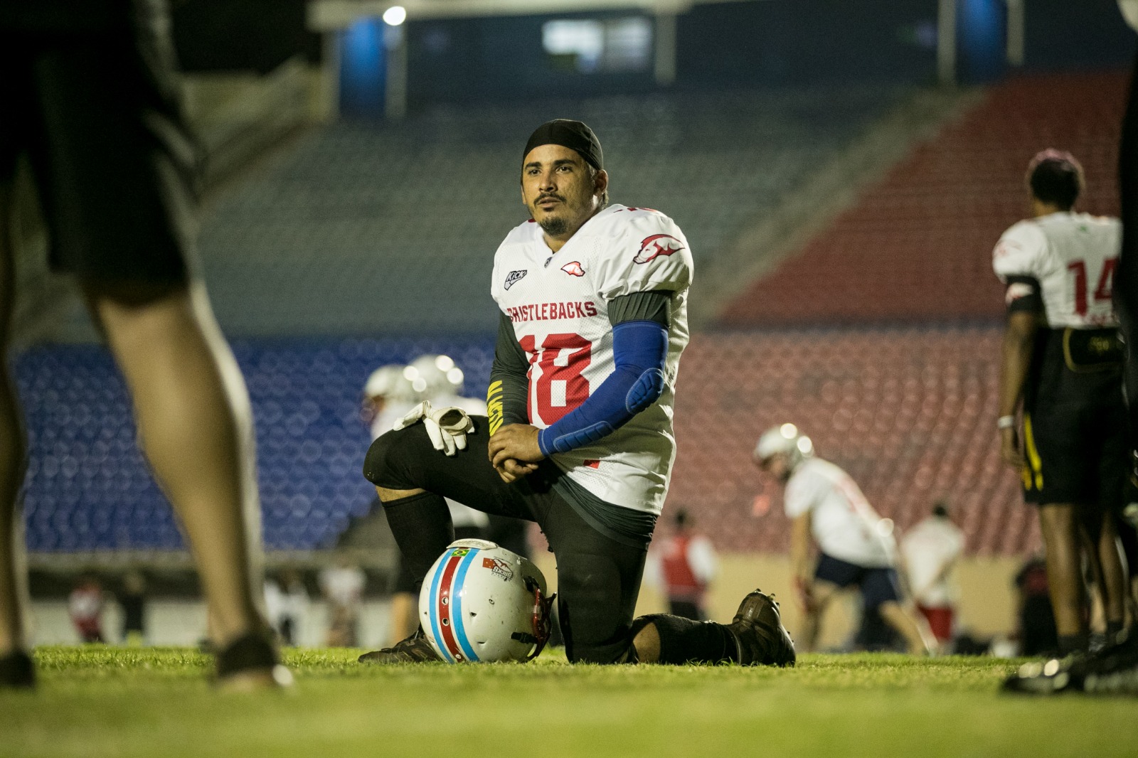
[[[668,329],[655,321],[625,321],[612,328],[617,366],[588,399],[542,429],[543,455],[568,453],[605,437],[654,403],[663,392]]]

